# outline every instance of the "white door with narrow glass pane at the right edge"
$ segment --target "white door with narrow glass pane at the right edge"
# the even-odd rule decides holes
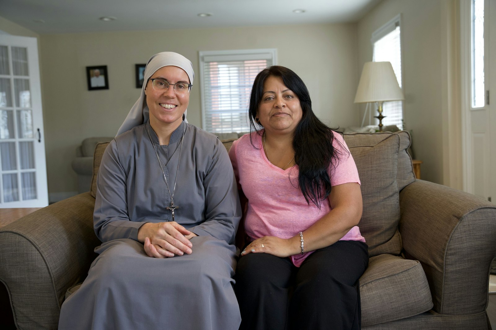
[[[464,189],[495,202],[496,1],[460,1],[460,5]]]

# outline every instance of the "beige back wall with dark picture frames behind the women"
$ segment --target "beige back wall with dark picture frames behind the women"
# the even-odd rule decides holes
[[[196,77],[188,121],[201,126],[198,51],[277,48],[278,64],[307,83],[317,116],[331,126],[357,125],[356,24],[42,35],[43,111],[50,193],[75,191],[70,162],[87,137],[114,136],[139,95],[134,64],[160,51],[191,60]],[[86,66],[107,65],[109,90],[88,91]]]

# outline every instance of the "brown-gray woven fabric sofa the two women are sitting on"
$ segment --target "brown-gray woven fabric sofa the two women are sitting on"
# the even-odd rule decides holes
[[[227,149],[235,139],[225,140]],[[360,279],[363,329],[491,329],[486,313],[496,255],[496,206],[416,180],[407,132],[349,134],[362,180],[359,224],[370,263]],[[94,172],[106,147],[95,150]],[[18,329],[57,329],[60,307],[86,276],[99,240],[90,192],[0,230],[0,281]]]

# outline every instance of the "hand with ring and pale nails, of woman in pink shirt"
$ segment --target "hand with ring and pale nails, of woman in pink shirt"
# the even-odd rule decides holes
[[[300,236],[291,238],[279,238],[275,236],[263,236],[250,242],[241,252],[241,255],[248,253],[268,253],[276,257],[285,258],[301,252]]]

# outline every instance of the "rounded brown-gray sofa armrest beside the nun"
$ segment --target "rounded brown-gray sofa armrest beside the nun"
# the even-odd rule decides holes
[[[65,291],[86,277],[100,244],[94,205],[82,193],[0,229],[0,281],[17,329],[57,329]]]

